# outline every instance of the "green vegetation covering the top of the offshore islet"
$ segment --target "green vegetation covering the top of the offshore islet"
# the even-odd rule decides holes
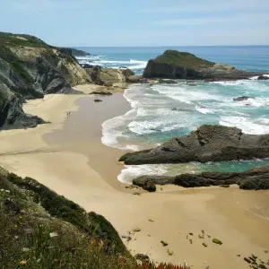
[[[183,66],[190,69],[214,65],[213,62],[206,61],[187,52],[179,52],[178,50],[166,50],[163,55],[158,56],[154,61],[174,66]]]

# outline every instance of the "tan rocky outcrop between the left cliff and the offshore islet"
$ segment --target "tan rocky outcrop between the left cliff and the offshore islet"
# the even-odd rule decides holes
[[[91,76],[91,81],[107,87],[126,87],[126,83],[134,81],[134,72],[129,69],[101,68],[94,66],[86,68],[87,73]],[[136,78],[135,78],[136,79]],[[137,82],[137,80],[135,80]]]

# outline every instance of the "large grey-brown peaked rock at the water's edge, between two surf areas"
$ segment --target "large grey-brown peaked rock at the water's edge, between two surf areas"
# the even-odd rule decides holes
[[[269,157],[269,134],[244,134],[236,127],[200,126],[142,152],[126,153],[126,164],[232,161]]]

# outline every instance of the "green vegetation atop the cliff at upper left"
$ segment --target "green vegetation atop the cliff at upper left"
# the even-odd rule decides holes
[[[48,47],[43,40],[34,36],[0,32],[0,46],[4,44],[31,48]]]

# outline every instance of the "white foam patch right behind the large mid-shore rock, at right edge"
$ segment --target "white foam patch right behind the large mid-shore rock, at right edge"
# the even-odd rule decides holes
[[[221,117],[221,126],[238,127],[245,134],[269,134],[269,125],[265,125],[267,118],[256,120],[249,117]]]

